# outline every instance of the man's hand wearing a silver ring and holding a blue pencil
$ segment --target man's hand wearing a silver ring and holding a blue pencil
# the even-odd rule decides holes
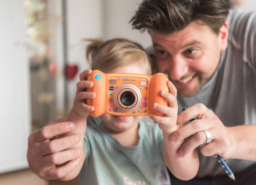
[[[177,142],[186,138],[185,143],[179,148],[178,154],[184,156],[198,146],[201,146],[201,153],[204,156],[219,154],[224,159],[229,158],[234,150],[233,134],[228,127],[225,127],[220,119],[202,103],[195,104],[179,114],[178,124],[188,122],[197,118],[187,125],[179,128],[169,136],[169,141]],[[208,130],[212,135],[212,141],[206,143],[206,133]],[[205,144],[205,145],[204,145]]]

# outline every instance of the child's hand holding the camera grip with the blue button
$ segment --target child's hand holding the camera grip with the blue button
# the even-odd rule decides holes
[[[86,88],[93,87],[93,82],[86,80],[86,77],[91,72],[91,69],[82,71],[82,73],[79,75],[80,81],[77,82],[77,92],[74,98],[73,111],[81,117],[87,117],[88,112],[94,110],[93,106],[88,106],[86,104],[86,99],[93,99],[96,97],[95,92],[85,91]]]

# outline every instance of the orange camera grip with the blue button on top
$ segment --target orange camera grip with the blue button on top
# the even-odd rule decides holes
[[[98,70],[92,71],[88,80],[93,82],[93,87],[88,88],[88,92],[96,92],[96,97],[87,99],[86,103],[94,107],[94,111],[89,114],[93,117],[99,117],[105,113],[106,107],[106,75]]]

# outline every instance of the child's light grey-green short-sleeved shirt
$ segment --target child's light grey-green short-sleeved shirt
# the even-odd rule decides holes
[[[137,146],[122,146],[101,124],[88,117],[85,164],[79,184],[170,184],[164,165],[162,130],[155,123],[139,123]]]

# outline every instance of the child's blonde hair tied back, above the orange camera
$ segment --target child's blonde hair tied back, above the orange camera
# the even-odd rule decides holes
[[[92,70],[97,69],[107,73],[119,66],[141,63],[148,74],[152,74],[150,56],[136,42],[128,39],[110,39],[106,42],[102,39],[85,39],[85,41],[90,42],[86,47],[86,58]]]

